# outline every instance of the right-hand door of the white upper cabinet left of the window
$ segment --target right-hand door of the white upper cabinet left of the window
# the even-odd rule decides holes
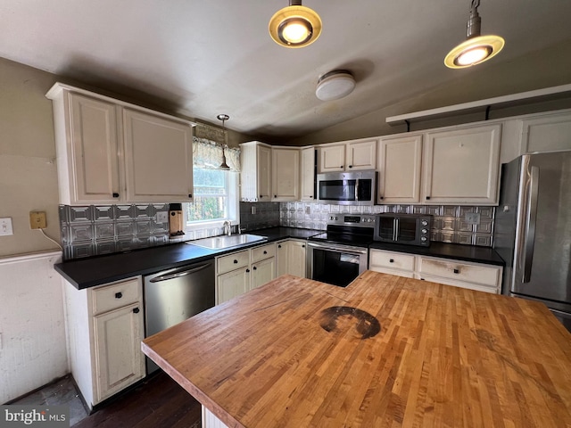
[[[129,202],[192,202],[191,128],[141,111],[123,110]]]

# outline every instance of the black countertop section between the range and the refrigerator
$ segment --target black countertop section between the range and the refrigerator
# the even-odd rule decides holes
[[[369,248],[377,250],[407,252],[420,256],[442,257],[443,259],[456,259],[474,261],[488,265],[505,266],[505,262],[491,247],[478,247],[461,243],[430,243],[429,247],[417,247],[398,243],[372,243]]]

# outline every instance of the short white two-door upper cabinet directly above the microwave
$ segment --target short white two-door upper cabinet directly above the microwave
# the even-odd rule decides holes
[[[376,167],[377,138],[318,147],[318,173],[360,171]]]

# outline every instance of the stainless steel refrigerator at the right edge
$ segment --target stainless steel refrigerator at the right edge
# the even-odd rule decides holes
[[[542,301],[571,331],[571,152],[503,164],[494,223],[502,292]]]

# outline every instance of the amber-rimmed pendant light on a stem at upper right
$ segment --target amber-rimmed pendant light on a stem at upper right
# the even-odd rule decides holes
[[[480,36],[482,20],[478,13],[480,0],[472,0],[468,18],[467,40],[454,47],[444,58],[444,64],[451,69],[464,69],[479,64],[501,51],[504,40],[500,36]]]

